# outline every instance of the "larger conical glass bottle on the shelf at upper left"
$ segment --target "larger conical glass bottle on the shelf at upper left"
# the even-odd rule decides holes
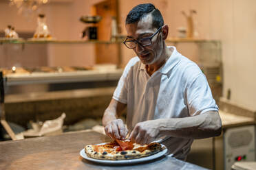
[[[34,33],[34,38],[52,38],[46,25],[46,17],[44,14],[39,14],[37,17],[37,27],[36,32]]]

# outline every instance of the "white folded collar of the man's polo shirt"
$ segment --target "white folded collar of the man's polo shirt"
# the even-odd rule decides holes
[[[180,61],[180,58],[178,56],[180,56],[181,54],[176,50],[176,48],[174,46],[168,46],[167,48],[171,50],[172,53],[169,59],[167,60],[167,62],[165,62],[165,64],[163,64],[160,67],[160,69],[158,69],[158,72],[162,74],[167,74]],[[145,69],[146,69],[145,64],[140,62],[140,70],[145,70]]]

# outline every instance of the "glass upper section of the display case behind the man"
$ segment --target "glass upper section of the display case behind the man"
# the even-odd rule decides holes
[[[182,44],[196,45],[198,58],[195,62],[204,71],[209,82],[222,82],[219,40],[175,38],[166,42],[175,47]],[[117,60],[99,65],[95,61],[88,64],[88,60],[96,60],[96,53],[92,52],[96,45],[102,45],[106,49],[113,45],[118,47],[118,52],[114,53]],[[122,40],[0,40],[0,68],[6,80],[5,86],[117,81],[125,66],[123,58],[127,58],[126,49],[121,45]],[[101,57],[105,58],[105,51],[101,53]],[[9,90],[12,88],[6,89],[6,94],[12,94]]]

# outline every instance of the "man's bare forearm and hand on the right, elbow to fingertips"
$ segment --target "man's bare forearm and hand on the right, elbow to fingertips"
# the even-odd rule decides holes
[[[137,123],[129,139],[132,142],[148,144],[158,136],[175,138],[209,138],[222,133],[222,120],[217,111],[207,111],[193,117],[156,119]]]

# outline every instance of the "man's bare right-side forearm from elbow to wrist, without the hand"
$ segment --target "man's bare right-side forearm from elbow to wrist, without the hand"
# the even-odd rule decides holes
[[[193,117],[159,119],[160,134],[178,138],[207,138],[219,136],[222,122],[219,114],[213,111]]]

